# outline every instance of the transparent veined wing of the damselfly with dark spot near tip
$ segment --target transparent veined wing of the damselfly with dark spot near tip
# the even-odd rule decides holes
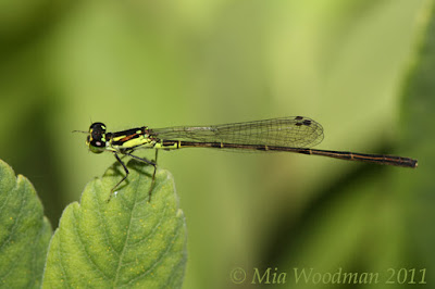
[[[211,126],[175,126],[151,129],[162,140],[226,142],[309,148],[323,140],[322,126],[303,116]]]

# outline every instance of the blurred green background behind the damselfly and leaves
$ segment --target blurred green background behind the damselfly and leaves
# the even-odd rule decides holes
[[[187,221],[185,288],[259,288],[249,284],[254,267],[288,273],[273,288],[312,288],[295,285],[294,267],[385,276],[426,268],[433,287],[435,117],[424,100],[434,90],[407,83],[431,5],[1,1],[0,158],[33,181],[57,227],[66,204],[114,162],[71,133],[91,122],[113,131],[312,117],[325,129],[320,149],[412,156],[420,167],[161,152]],[[232,282],[235,267],[247,272],[241,285]]]

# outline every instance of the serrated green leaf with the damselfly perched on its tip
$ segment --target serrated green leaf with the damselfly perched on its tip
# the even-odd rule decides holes
[[[50,243],[44,288],[181,288],[186,226],[171,174],[132,160],[130,174],[110,202],[124,171],[115,163],[70,204]]]

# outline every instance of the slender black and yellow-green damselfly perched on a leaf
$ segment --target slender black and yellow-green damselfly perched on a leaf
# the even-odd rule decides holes
[[[90,125],[89,131],[82,133],[88,134],[86,144],[91,152],[112,152],[124,168],[125,176],[113,187],[108,201],[129,174],[120,155],[128,155],[154,167],[149,191],[149,198],[151,198],[156,178],[157,155],[161,149],[213,148],[247,151],[286,151],[384,165],[418,166],[417,160],[403,156],[311,149],[311,147],[319,144],[323,140],[323,128],[319,123],[303,116],[211,126],[175,126],[165,128],[142,126],[116,133],[107,133],[104,124],[94,123]],[[134,155],[133,153],[138,149],[156,149],[154,161]]]

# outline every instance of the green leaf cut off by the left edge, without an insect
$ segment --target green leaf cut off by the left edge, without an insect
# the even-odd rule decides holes
[[[51,233],[30,181],[0,160],[1,288],[40,288]]]

